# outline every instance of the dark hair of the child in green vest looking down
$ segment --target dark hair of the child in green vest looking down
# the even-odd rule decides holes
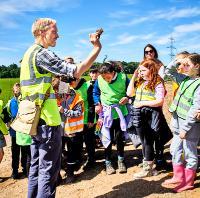
[[[106,73],[112,73],[112,72],[119,73],[121,71],[122,71],[122,66],[117,61],[104,62],[99,67],[100,74],[106,74]]]

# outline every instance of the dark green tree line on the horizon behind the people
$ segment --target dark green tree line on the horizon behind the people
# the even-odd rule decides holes
[[[95,67],[98,67],[100,64],[99,62],[95,62],[93,65]],[[123,71],[126,74],[132,74],[135,69],[138,67],[139,62],[119,62],[119,65],[122,66]],[[87,75],[88,72],[85,73],[85,75]],[[20,67],[13,63],[9,66],[5,66],[5,65],[1,65],[0,66],[0,78],[19,78],[20,76]]]

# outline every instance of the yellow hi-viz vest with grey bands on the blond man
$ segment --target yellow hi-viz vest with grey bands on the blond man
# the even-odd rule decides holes
[[[35,62],[36,55],[41,48],[39,45],[32,45],[22,59],[20,71],[22,98],[35,101],[37,105],[42,105],[45,93],[50,87],[50,95],[43,104],[40,117],[47,125],[58,126],[61,123],[61,118],[55,92],[51,85],[52,74],[49,72],[45,74],[39,73]]]

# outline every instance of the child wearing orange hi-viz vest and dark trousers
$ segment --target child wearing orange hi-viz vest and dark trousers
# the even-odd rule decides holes
[[[61,102],[60,112],[65,117],[64,136],[67,144],[67,169],[65,183],[75,180],[74,171],[80,168],[84,128],[84,104],[83,99],[73,88],[69,88]]]

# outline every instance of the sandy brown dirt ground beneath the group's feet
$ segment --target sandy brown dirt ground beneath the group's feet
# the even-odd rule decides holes
[[[169,94],[168,94],[169,95]],[[165,106],[169,104],[169,97],[166,98]],[[164,108],[164,113],[169,120],[167,108]],[[8,146],[5,148],[5,155],[0,164],[0,176],[4,178],[4,182],[0,183],[0,198],[23,198],[27,196],[27,178],[13,180],[11,176],[11,148],[10,137],[7,136]],[[114,148],[114,147],[113,147]],[[169,145],[165,149],[166,157],[169,157]],[[116,161],[116,152],[113,152]],[[195,181],[195,189],[175,194],[170,186],[163,186],[162,182],[169,178],[169,171],[159,171],[159,175],[145,178],[134,179],[133,174],[139,170],[137,165],[141,162],[141,147],[134,149],[129,142],[125,146],[125,158],[128,167],[126,174],[116,173],[107,176],[104,170],[104,153],[103,148],[97,149],[96,152],[97,165],[93,170],[83,172],[80,169],[76,172],[77,181],[70,185],[61,185],[57,187],[57,198],[118,198],[118,197],[133,197],[133,198],[198,198],[200,197],[200,173],[198,172]],[[64,173],[62,172],[62,175]]]

